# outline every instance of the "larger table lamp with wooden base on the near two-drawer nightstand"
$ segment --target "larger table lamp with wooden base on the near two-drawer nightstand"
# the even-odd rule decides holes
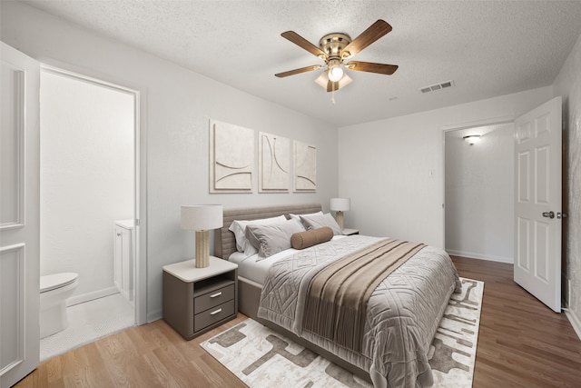
[[[182,205],[180,226],[182,229],[196,231],[197,268],[210,265],[210,230],[223,225],[222,204]]]

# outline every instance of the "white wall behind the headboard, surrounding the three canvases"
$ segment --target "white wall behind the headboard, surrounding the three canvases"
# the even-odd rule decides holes
[[[337,133],[329,124],[248,95],[28,5],[1,3],[2,40],[36,60],[141,90],[147,136],[147,319],[162,314],[162,266],[193,256],[181,204],[300,204],[337,195]],[[269,75],[271,76],[271,75]],[[209,121],[317,146],[317,193],[209,194]],[[145,167],[145,165],[143,165]],[[255,181],[256,182],[256,181]]]

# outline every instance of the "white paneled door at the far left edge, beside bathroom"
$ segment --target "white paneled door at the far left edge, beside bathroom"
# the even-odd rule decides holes
[[[0,42],[0,387],[40,359],[40,65]]]

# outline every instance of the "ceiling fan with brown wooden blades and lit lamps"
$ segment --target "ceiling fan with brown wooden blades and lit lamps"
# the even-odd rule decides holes
[[[281,36],[290,40],[295,45],[304,48],[310,54],[318,56],[320,59],[325,61],[325,65],[301,67],[300,69],[276,74],[276,76],[282,78],[289,75],[299,75],[301,73],[319,70],[326,66],[327,68],[325,71],[315,80],[315,82],[327,89],[327,92],[335,92],[341,87],[349,85],[351,82],[350,76],[345,74],[343,67],[359,72],[392,75],[396,70],[398,70],[397,65],[375,64],[360,61],[344,63],[346,59],[356,55],[359,51],[377,41],[381,36],[387,35],[389,31],[391,31],[391,25],[386,21],[379,19],[353,40],[351,40],[350,36],[347,34],[333,33],[325,35],[320,38],[319,47],[311,44],[308,40],[294,31],[287,31],[286,33],[282,33]]]

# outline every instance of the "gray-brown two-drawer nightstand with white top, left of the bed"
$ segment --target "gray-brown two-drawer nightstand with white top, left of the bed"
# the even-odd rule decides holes
[[[163,267],[163,320],[191,340],[238,313],[238,265],[210,256],[196,268],[189,260]]]

